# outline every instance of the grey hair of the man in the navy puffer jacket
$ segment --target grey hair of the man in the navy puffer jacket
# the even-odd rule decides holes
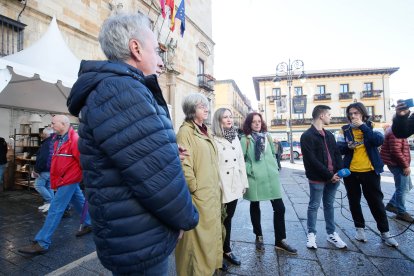
[[[118,14],[107,18],[99,32],[99,44],[108,60],[126,61],[131,57],[129,41],[144,46],[144,34],[151,31],[150,21],[142,13]]]

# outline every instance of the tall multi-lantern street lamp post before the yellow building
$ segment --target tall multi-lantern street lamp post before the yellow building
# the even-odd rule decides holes
[[[292,62],[286,63],[281,62],[276,66],[276,77],[275,82],[280,82],[281,77],[286,76],[287,85],[289,89],[289,137],[288,141],[290,144],[290,163],[295,163],[293,159],[293,137],[292,137],[292,82],[295,75],[295,71],[302,70],[301,74],[297,76],[298,79],[305,80],[305,64],[302,60],[296,59]]]

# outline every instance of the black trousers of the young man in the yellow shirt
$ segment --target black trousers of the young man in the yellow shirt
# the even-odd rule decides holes
[[[355,227],[365,228],[365,219],[361,209],[361,187],[367,200],[371,214],[377,222],[377,228],[381,233],[388,232],[388,219],[382,200],[381,176],[375,171],[352,172],[344,178],[346,192],[348,193],[349,208]]]

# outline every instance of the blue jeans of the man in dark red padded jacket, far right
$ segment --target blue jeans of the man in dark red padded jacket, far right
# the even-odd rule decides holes
[[[394,175],[395,192],[389,204],[397,208],[398,213],[405,213],[405,197],[410,191],[411,177],[403,174],[403,169],[400,167],[388,166],[391,173]]]

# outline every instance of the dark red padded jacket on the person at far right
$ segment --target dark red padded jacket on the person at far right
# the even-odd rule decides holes
[[[381,147],[384,164],[400,168],[410,167],[411,155],[407,139],[395,137],[391,128],[385,131],[384,144]]]

